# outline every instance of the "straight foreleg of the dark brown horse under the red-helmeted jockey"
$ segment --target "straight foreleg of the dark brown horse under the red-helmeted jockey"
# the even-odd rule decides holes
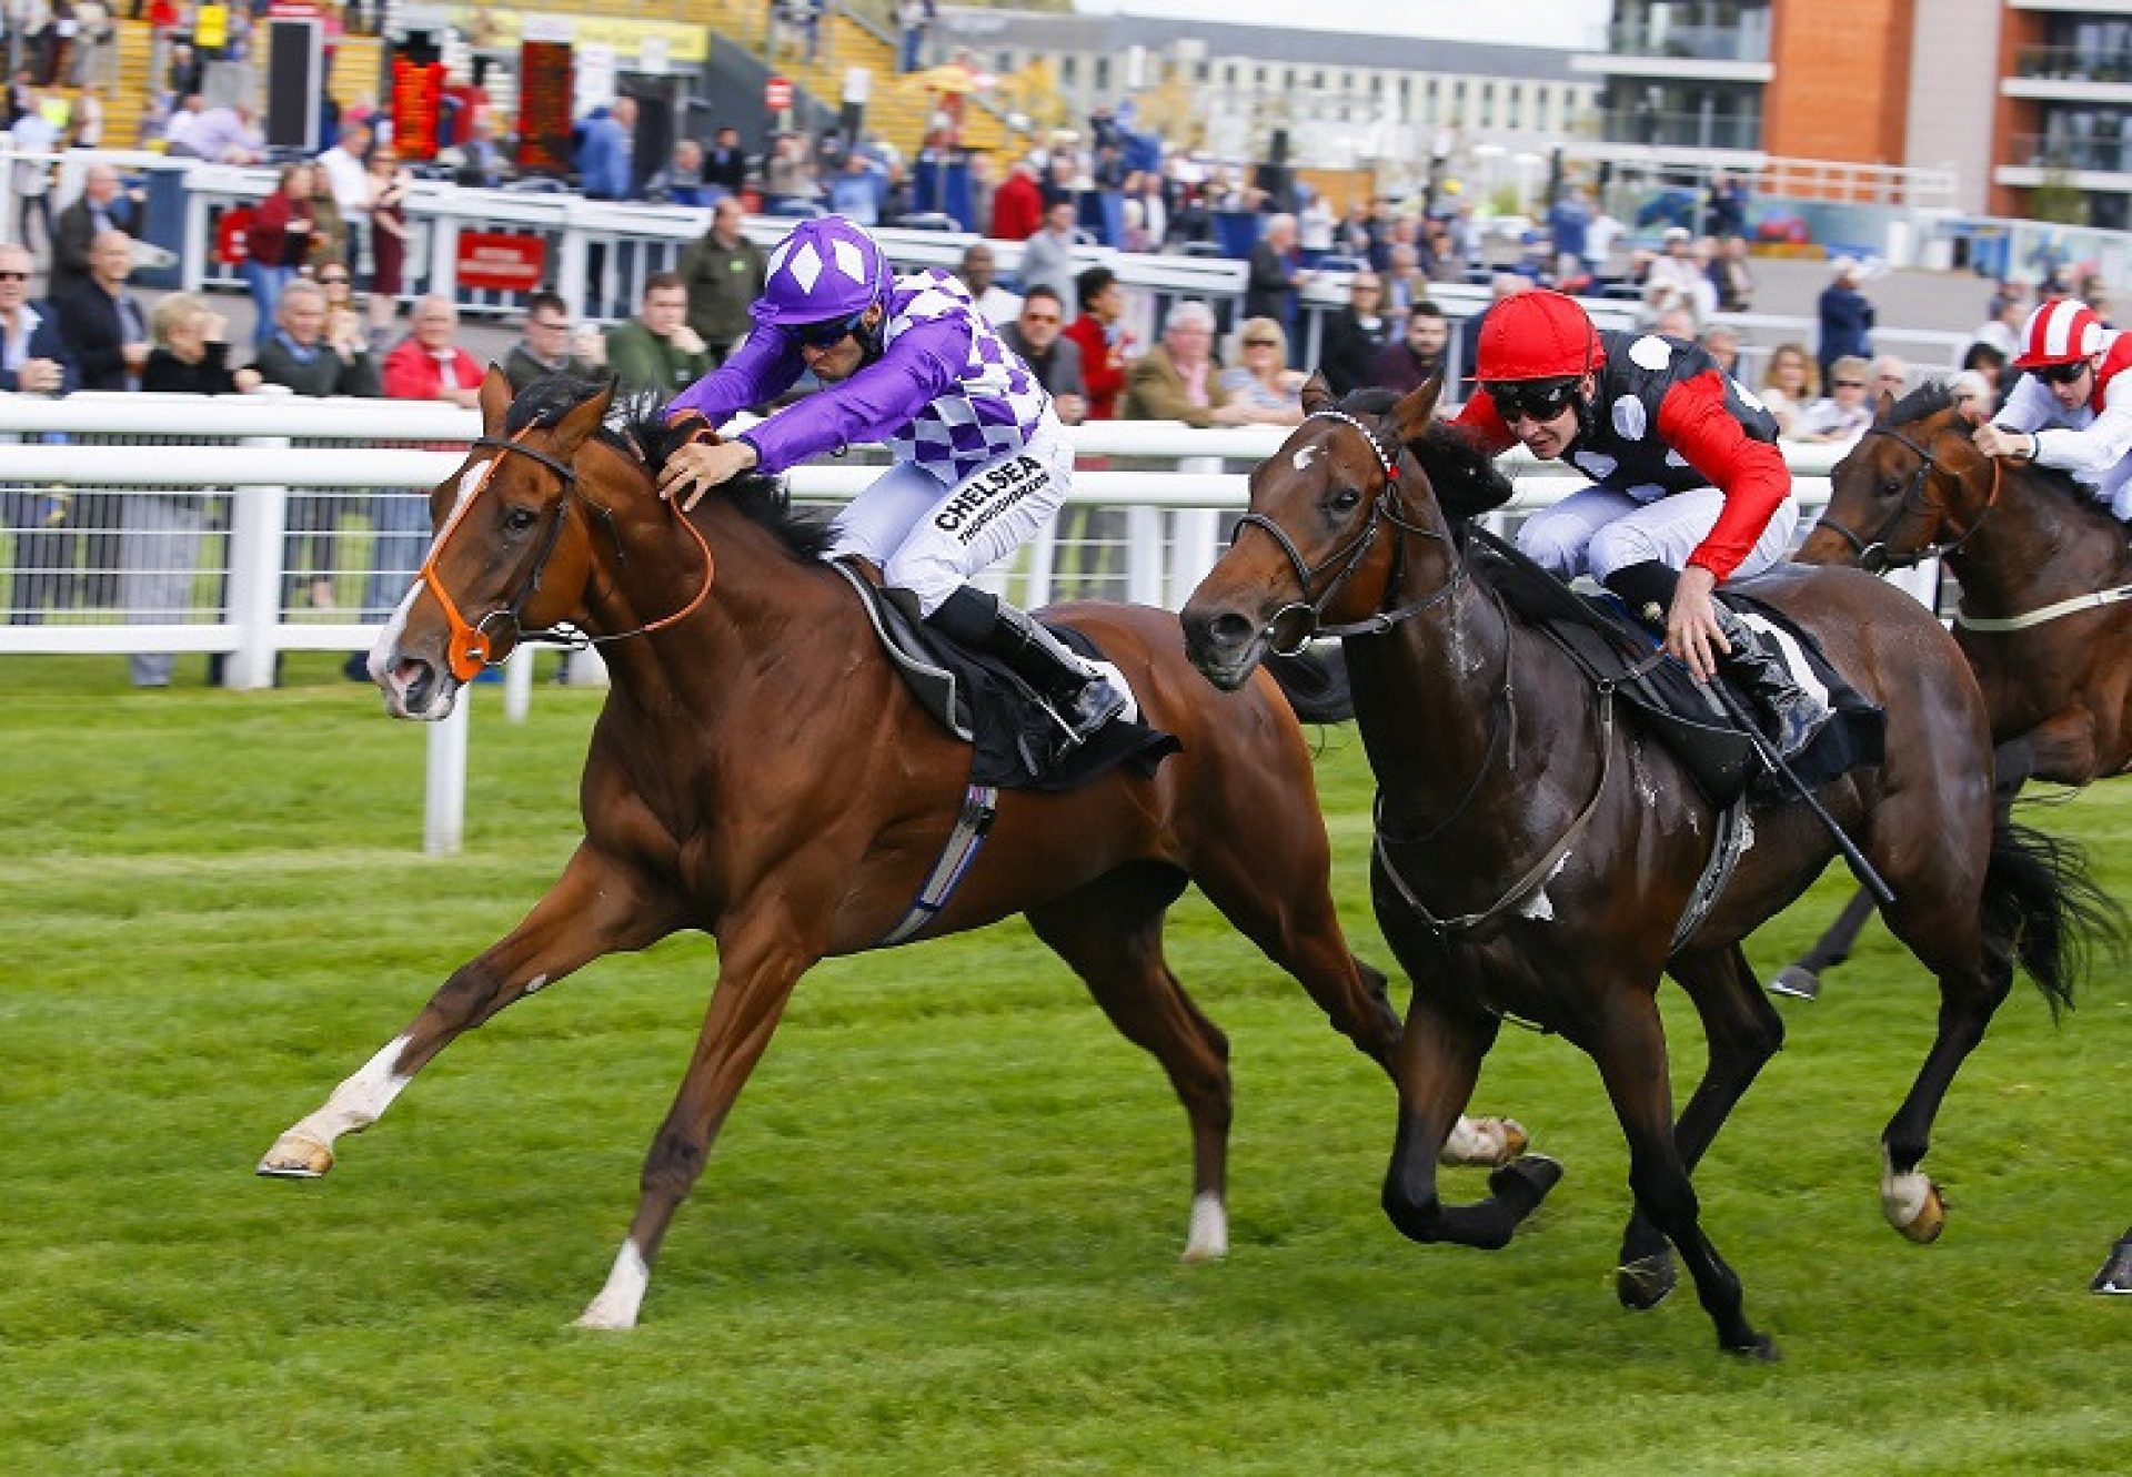
[[[1627,991],[1616,991],[1616,1004],[1601,1021],[1590,1053],[1629,1138],[1629,1189],[1635,1191],[1635,1206],[1665,1232],[1689,1266],[1695,1296],[1718,1330],[1718,1347],[1774,1360],[1776,1345],[1746,1321],[1740,1279],[1703,1236],[1695,1185],[1674,1142],[1674,1093],[1665,1076],[1659,1006],[1650,995],[1620,1000],[1622,993]]]

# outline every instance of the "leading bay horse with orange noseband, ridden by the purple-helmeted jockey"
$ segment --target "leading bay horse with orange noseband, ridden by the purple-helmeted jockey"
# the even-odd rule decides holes
[[[704,929],[718,940],[710,1012],[629,1236],[580,1319],[629,1328],[793,985],[817,959],[878,946],[906,914],[955,833],[970,750],[908,695],[851,588],[814,558],[821,529],[791,520],[776,484],[723,488],[678,518],[640,443],[603,431],[610,394],[542,382],[514,405],[490,369],[484,435],[431,494],[441,533],[371,656],[388,712],[439,718],[520,631],[569,620],[612,642],[584,842],[524,923],[281,1134],[260,1172],[324,1174],[335,1138],[369,1127],[461,1032],[601,955]],[[1399,1015],[1341,936],[1309,750],[1275,682],[1213,693],[1166,612],[1068,614],[1183,752],[1153,778],[1117,769],[1068,793],[1000,795],[976,863],[921,936],[1028,914],[1168,1072],[1192,1121],[1185,1257],[1215,1257],[1228,1245],[1228,1042],[1164,961],[1168,906],[1196,882],[1388,1072]],[[1486,1162],[1518,1147],[1509,1121],[1469,1123],[1458,1145]]]

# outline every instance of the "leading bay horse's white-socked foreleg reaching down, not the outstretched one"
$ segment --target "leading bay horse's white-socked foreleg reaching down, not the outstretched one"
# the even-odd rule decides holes
[[[827,912],[827,910],[823,910]],[[746,1085],[772,1032],[785,1015],[793,985],[821,957],[808,946],[810,934],[793,916],[750,919],[746,927],[718,936],[718,983],[710,1012],[680,1081],[674,1106],[644,1157],[637,1215],[614,1255],[599,1296],[578,1317],[582,1328],[635,1328],[650,1264],[659,1255],[674,1211],[689,1196],[710,1147]]]

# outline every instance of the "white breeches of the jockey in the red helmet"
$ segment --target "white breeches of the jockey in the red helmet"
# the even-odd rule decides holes
[[[1518,529],[1518,550],[1563,580],[1588,573],[1605,584],[1616,569],[1648,561],[1686,567],[1689,554],[1710,537],[1721,512],[1725,494],[1716,488],[1671,492],[1650,503],[1612,488],[1584,488],[1527,518]],[[1787,497],[1727,580],[1746,580],[1784,558],[1797,526],[1799,499]]]

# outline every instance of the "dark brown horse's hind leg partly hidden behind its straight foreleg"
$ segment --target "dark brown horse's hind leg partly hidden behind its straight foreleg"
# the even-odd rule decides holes
[[[1689,1174],[1695,1174],[1733,1104],[1784,1044],[1784,1019],[1755,985],[1755,972],[1738,944],[1710,955],[1684,955],[1674,961],[1671,972],[1695,1002],[1710,1042],[1703,1081],[1674,1123],[1674,1147]],[[1620,1240],[1614,1296],[1627,1309],[1654,1309],[1674,1292],[1674,1253],[1667,1251],[1665,1234],[1637,1208]]]

